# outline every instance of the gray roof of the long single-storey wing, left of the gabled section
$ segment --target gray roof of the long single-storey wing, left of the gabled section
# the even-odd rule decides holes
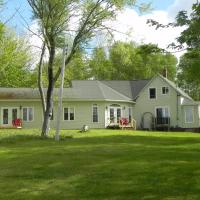
[[[46,89],[44,89],[46,93]],[[58,89],[54,90],[57,96]],[[72,81],[71,88],[64,88],[63,98],[69,100],[124,101],[132,99],[108,87],[100,81]],[[40,99],[37,88],[0,88],[0,100],[3,99]]]

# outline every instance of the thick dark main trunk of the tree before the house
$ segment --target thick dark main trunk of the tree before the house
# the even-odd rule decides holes
[[[55,46],[50,47],[49,62],[48,62],[48,89],[46,97],[46,111],[42,126],[42,137],[48,137],[50,129],[50,119],[53,109],[53,92],[54,92],[54,77],[53,77],[53,63],[55,58]]]

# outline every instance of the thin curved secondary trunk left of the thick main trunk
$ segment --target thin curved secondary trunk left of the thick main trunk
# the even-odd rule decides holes
[[[46,101],[45,101],[43,84],[42,84],[42,67],[43,67],[43,58],[44,58],[45,48],[46,48],[46,45],[44,42],[43,47],[42,47],[42,53],[40,56],[40,62],[39,62],[39,66],[38,66],[38,88],[39,88],[39,92],[40,92],[40,98],[42,101],[43,117],[45,116],[45,111],[46,111]]]

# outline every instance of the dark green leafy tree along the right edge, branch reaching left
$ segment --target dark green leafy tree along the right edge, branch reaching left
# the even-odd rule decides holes
[[[178,65],[177,82],[178,85],[185,89],[186,92],[197,100],[199,97],[199,72],[200,72],[200,3],[194,3],[192,6],[192,13],[188,15],[186,11],[180,11],[176,16],[174,23],[167,25],[160,24],[154,20],[148,20],[156,28],[166,27],[186,27],[176,39],[177,43],[173,42],[169,47],[175,50],[187,50],[186,54],[180,60]]]

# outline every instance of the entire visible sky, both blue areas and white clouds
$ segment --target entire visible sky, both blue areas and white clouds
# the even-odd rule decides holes
[[[115,40],[134,41],[136,43],[158,44],[161,48],[166,48],[170,43],[180,35],[183,28],[169,28],[155,30],[146,24],[147,19],[155,19],[160,23],[167,24],[173,22],[178,11],[191,11],[192,4],[196,0],[150,0],[153,10],[151,12],[140,14],[134,9],[126,8],[119,13],[116,22],[111,26],[119,32],[129,33],[128,36],[122,33],[114,33]],[[9,19],[8,26],[14,28],[19,35],[27,33],[25,27],[36,28],[32,22],[31,9],[27,0],[7,0],[6,5],[1,12],[3,22]],[[139,2],[149,2],[149,0],[139,0]],[[17,11],[16,11],[17,10]],[[38,38],[31,37],[30,43],[40,45]],[[174,53],[179,58],[184,52]]]

